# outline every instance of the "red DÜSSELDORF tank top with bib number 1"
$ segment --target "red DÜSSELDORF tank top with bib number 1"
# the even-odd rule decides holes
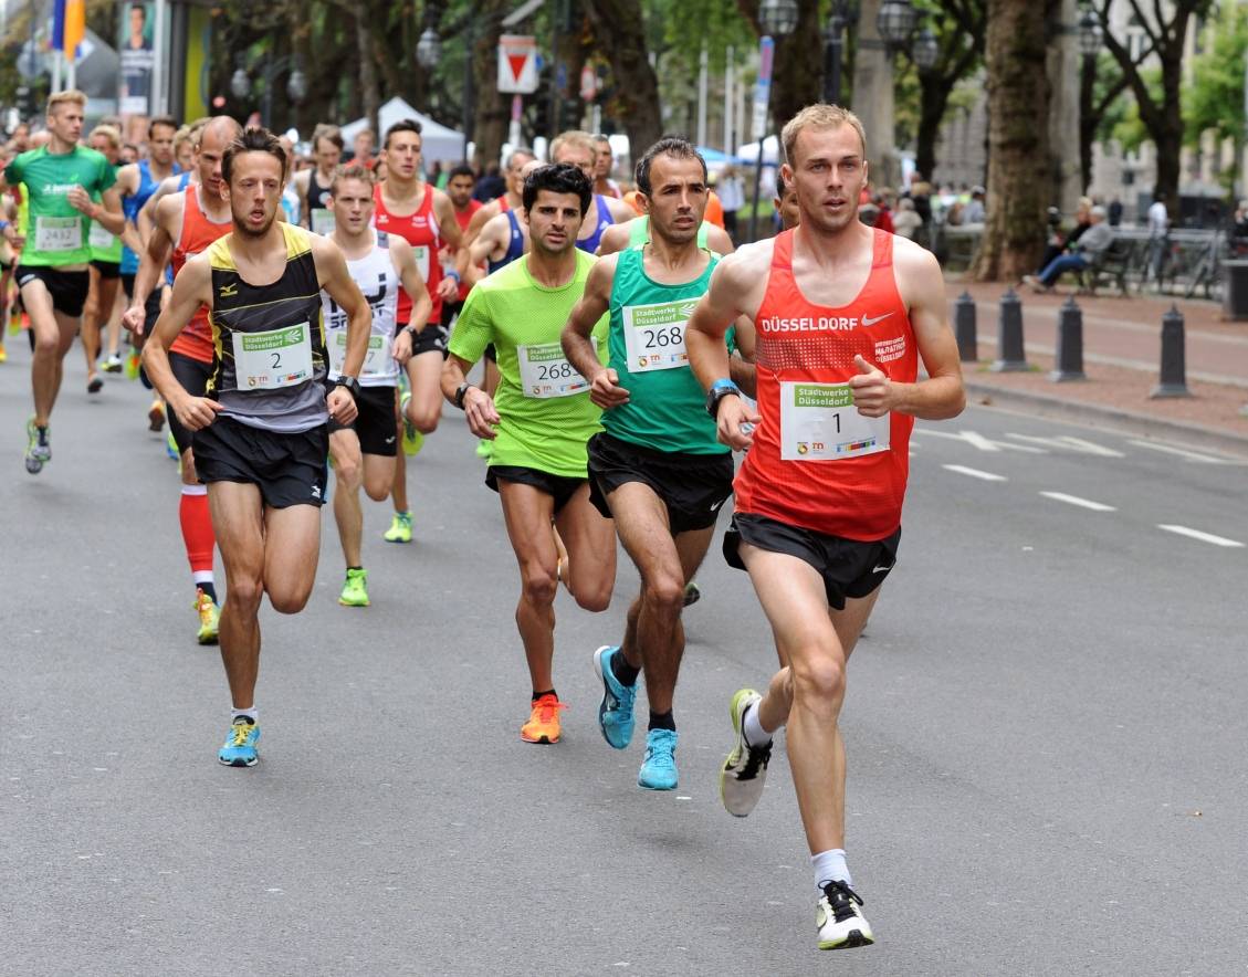
[[[736,475],[736,510],[846,539],[901,525],[915,420],[871,422],[849,403],[855,353],[914,383],[919,353],[892,268],[892,236],[874,232],[871,273],[847,306],[807,301],[792,273],[794,232],[776,236],[758,328],[763,420]],[[887,447],[885,445],[887,442]]]

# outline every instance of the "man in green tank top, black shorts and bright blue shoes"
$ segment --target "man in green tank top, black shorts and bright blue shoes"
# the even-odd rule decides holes
[[[680,611],[685,585],[733,493],[733,455],[716,440],[685,356],[685,321],[715,265],[698,247],[706,163],[686,140],[664,139],[646,150],[636,177],[651,240],[594,266],[563,348],[568,362],[590,378],[594,403],[604,408],[605,429],[589,442],[592,498],[614,517],[641,576],[620,646],[594,653],[603,683],[599,726],[613,747],[629,745],[636,678],[644,670],[650,722],[638,785],[673,790],[671,700],[684,654]],[[609,364],[603,367],[589,337],[608,311]]]

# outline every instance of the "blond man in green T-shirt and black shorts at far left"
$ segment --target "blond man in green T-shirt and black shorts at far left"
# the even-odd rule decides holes
[[[30,202],[29,233],[15,277],[35,336],[30,366],[35,413],[26,423],[25,458],[32,475],[52,458],[50,420],[62,361],[86,302],[91,225],[99,222],[115,235],[125,226],[112,167],[95,150],[79,146],[85,110],[86,96],[80,91],[52,95],[47,100],[51,139],[12,160],[0,182],[0,190],[24,183],[22,197]],[[4,233],[9,243],[17,243],[16,228],[5,227]]]

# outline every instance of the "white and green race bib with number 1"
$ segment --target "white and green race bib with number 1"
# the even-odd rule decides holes
[[[889,450],[891,420],[862,417],[847,383],[780,383],[780,458],[839,462]]]

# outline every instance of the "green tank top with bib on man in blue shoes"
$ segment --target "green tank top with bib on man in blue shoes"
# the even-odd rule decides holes
[[[612,286],[608,363],[629,402],[603,413],[612,437],[656,452],[724,454],[706,394],[689,368],[685,323],[710,284],[719,258],[685,284],[660,284],[645,273],[643,248],[622,251]]]

